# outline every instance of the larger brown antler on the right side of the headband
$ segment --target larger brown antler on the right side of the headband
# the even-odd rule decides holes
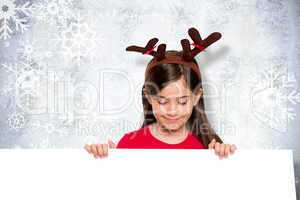
[[[191,61],[198,53],[200,53],[205,48],[207,48],[222,37],[221,33],[214,32],[210,34],[205,40],[202,40],[199,31],[195,28],[190,28],[188,33],[194,41],[194,43],[192,44],[194,48],[191,50],[190,42],[188,39],[181,40],[183,58],[186,61]]]

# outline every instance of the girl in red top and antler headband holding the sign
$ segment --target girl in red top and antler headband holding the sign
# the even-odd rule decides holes
[[[126,133],[118,144],[85,145],[95,158],[108,155],[108,148],[164,148],[164,149],[214,149],[220,159],[236,150],[235,145],[224,144],[212,129],[204,109],[200,70],[194,57],[221,38],[218,32],[201,39],[195,28],[189,29],[189,40],[181,40],[182,51],[166,51],[160,44],[154,51],[157,38],[146,47],[130,46],[127,51],[137,51],[154,56],[145,72],[142,89],[144,122],[140,129]]]

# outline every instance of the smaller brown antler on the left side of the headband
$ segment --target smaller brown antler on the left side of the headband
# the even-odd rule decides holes
[[[148,54],[154,56],[158,61],[165,58],[166,53],[166,44],[160,44],[157,47],[157,51],[154,51],[155,45],[158,42],[157,38],[152,38],[148,41],[145,47],[139,46],[129,46],[126,48],[126,51],[136,51],[142,54]]]

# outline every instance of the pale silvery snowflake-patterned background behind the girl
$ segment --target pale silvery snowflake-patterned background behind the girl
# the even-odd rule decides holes
[[[81,148],[139,128],[150,58],[126,46],[159,37],[180,49],[195,26],[223,36],[196,58],[216,132],[293,149],[298,175],[299,13],[283,0],[2,0],[0,148]]]

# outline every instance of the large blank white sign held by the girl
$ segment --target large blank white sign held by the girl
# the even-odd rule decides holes
[[[291,150],[0,150],[0,199],[296,200]]]

